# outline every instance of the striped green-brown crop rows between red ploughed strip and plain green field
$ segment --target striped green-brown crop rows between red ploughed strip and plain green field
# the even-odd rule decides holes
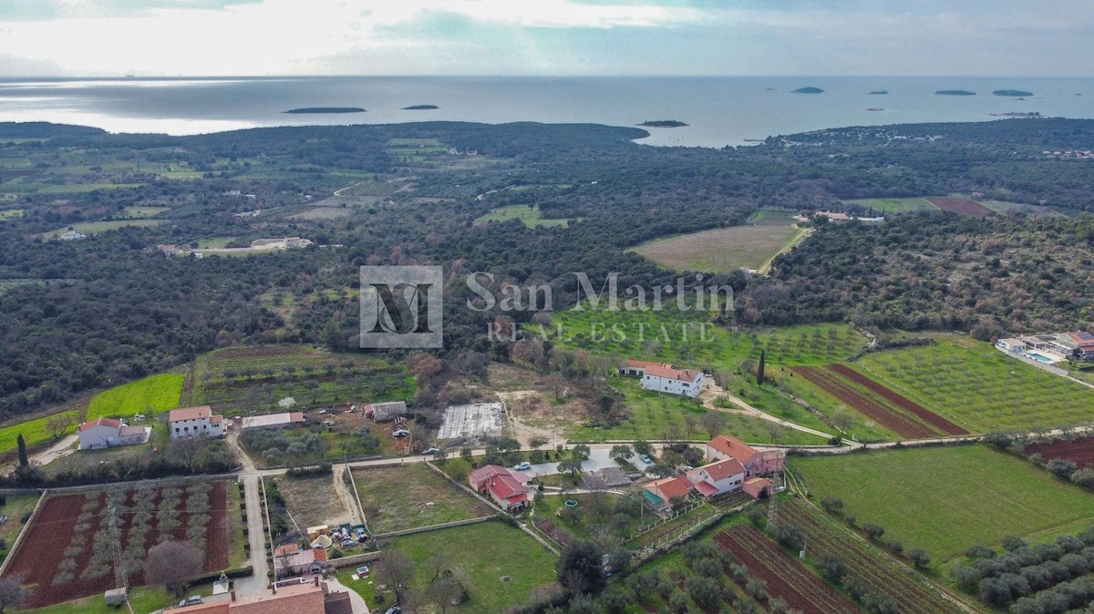
[[[926,580],[835,526],[807,504],[798,500],[780,504],[779,521],[802,530],[811,555],[840,557],[850,569],[848,577],[858,578],[870,590],[896,600],[901,614],[966,614],[963,607],[926,585]]]

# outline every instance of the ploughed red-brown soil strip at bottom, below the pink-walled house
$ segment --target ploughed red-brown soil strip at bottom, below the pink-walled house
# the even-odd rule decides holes
[[[787,600],[803,614],[861,613],[846,597],[813,575],[798,559],[782,552],[771,540],[746,524],[714,535],[723,550],[748,566],[750,576],[767,582],[768,594]]]

